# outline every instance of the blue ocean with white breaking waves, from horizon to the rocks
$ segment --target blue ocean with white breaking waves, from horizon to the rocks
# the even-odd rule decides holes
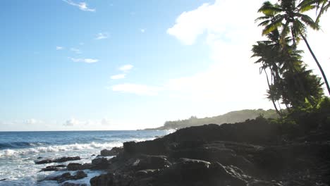
[[[61,132],[0,132],[0,186],[2,185],[59,185],[56,181],[42,181],[49,175],[62,171],[39,172],[56,163],[36,165],[38,158],[56,159],[63,156],[80,156],[80,161],[90,163],[102,149],[121,147],[123,142],[145,141],[167,135],[173,131],[61,131]],[[72,171],[74,172],[74,171]],[[90,185],[90,178],[100,171],[85,171],[87,178],[71,182]],[[5,179],[5,180],[4,180]]]

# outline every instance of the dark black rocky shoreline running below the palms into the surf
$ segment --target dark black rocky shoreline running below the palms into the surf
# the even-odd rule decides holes
[[[85,169],[105,173],[92,178],[92,186],[325,186],[330,185],[330,133],[322,129],[290,138],[262,118],[209,124],[104,149],[91,163],[43,171],[77,171],[47,179],[82,186],[66,181],[85,178]]]

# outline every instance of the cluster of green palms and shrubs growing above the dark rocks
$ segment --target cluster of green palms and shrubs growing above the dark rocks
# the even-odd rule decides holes
[[[307,42],[307,28],[320,29],[319,20],[329,4],[330,1],[321,0],[279,0],[275,4],[266,1],[259,8],[262,16],[256,21],[267,39],[252,46],[252,57],[257,58],[255,63],[260,65],[260,73],[266,74],[267,98],[281,116],[276,122],[298,124],[306,130],[317,128],[322,122],[329,123],[329,97],[322,89],[325,84],[330,94],[329,83]],[[315,20],[307,15],[310,11],[316,11]],[[300,40],[307,45],[322,78],[307,69],[302,59],[304,51],[298,49]]]

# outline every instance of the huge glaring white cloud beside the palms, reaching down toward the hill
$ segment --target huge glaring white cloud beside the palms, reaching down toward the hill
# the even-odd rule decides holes
[[[211,61],[195,63],[210,63],[209,68],[190,76],[175,77],[156,87],[123,84],[113,86],[112,90],[144,95],[166,93],[209,106],[224,104],[231,109],[270,108],[264,96],[267,82],[250,58],[252,44],[261,39],[255,18],[262,2],[240,2],[237,16],[228,8],[233,7],[233,1],[229,0],[218,0],[183,12],[167,32],[183,44],[195,44],[202,37],[201,41],[209,46]]]

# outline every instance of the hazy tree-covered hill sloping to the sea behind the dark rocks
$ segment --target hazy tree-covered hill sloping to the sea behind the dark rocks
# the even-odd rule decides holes
[[[275,110],[267,110],[264,111],[263,109],[257,110],[242,110],[242,111],[231,111],[225,113],[224,115],[214,116],[211,118],[197,118],[195,116],[191,116],[185,120],[173,120],[173,121],[166,121],[164,126],[159,128],[152,128],[146,130],[171,130],[171,129],[180,129],[180,128],[188,128],[191,126],[198,126],[204,125],[209,123],[216,123],[216,124],[223,124],[223,123],[238,123],[243,122],[247,119],[255,119],[257,116],[264,116],[264,118],[277,118],[278,115],[276,114]]]

